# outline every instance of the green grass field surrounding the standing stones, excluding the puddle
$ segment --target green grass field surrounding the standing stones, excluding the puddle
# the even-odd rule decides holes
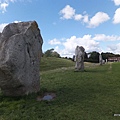
[[[120,119],[114,116],[120,114],[120,63],[85,63],[86,72],[74,72],[72,61],[50,61],[41,61],[40,93],[16,98],[0,94],[0,120]],[[56,98],[36,101],[44,92],[54,92]]]

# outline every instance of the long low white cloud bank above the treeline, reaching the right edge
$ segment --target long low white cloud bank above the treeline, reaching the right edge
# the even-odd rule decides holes
[[[53,39],[54,40],[54,39]],[[56,41],[55,39],[54,41]],[[120,41],[120,36],[116,35],[105,35],[105,34],[96,34],[92,37],[92,35],[84,35],[82,37],[71,36],[70,38],[62,40],[57,40],[60,44],[57,44],[55,47],[55,51],[57,51],[62,57],[73,57],[75,54],[76,46],[83,46],[86,52],[112,52],[112,53],[120,53],[120,43],[115,43],[116,41]],[[104,42],[108,42],[107,45],[103,44]],[[114,45],[110,45],[113,43]],[[54,44],[55,45],[55,44]]]

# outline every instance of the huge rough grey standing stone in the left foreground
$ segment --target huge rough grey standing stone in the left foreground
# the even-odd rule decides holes
[[[21,96],[40,90],[42,37],[35,21],[11,23],[0,34],[0,88]]]

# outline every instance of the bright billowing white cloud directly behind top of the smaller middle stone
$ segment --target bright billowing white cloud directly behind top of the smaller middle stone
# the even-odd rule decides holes
[[[101,51],[99,48],[99,42],[93,40],[91,35],[84,35],[83,37],[71,36],[66,39],[66,41],[61,42],[60,46],[55,47],[55,51],[57,51],[62,57],[72,57],[75,54],[76,46],[83,46],[86,52],[91,51]],[[63,47],[62,49],[61,46]]]

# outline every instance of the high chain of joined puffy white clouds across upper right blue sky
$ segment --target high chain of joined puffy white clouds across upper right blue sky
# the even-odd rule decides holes
[[[97,12],[89,20],[89,15],[86,12],[84,12],[83,15],[76,14],[75,9],[72,8],[70,5],[66,5],[65,8],[63,8],[60,11],[60,15],[62,15],[61,19],[74,19],[76,21],[81,21],[82,23],[86,23],[86,24],[88,24],[87,27],[89,27],[89,28],[95,28],[110,19],[109,15],[107,13]]]

